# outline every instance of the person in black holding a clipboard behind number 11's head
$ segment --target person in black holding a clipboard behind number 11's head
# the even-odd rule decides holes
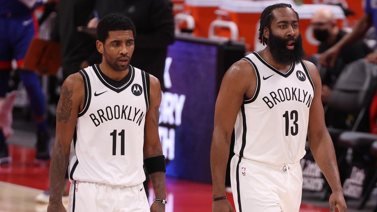
[[[131,65],[155,77],[164,88],[164,68],[167,46],[174,41],[172,3],[169,0],[96,0],[99,18],[110,13],[122,13],[136,26],[135,51]],[[93,18],[88,27],[97,27]]]

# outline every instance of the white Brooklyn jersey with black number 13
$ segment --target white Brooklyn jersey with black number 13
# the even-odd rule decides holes
[[[274,164],[295,163],[305,155],[314,84],[301,60],[282,73],[253,52],[242,58],[254,68],[257,88],[244,100],[234,126],[234,153]]]

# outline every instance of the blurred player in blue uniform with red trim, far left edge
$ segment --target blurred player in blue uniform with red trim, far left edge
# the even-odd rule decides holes
[[[23,58],[34,36],[37,35],[37,20],[32,10],[43,1],[0,0],[0,97],[8,91],[11,61],[17,66],[23,64]],[[47,133],[46,103],[39,76],[32,71],[20,70],[20,78],[28,92],[31,108],[37,122],[37,159],[49,158],[49,135]],[[3,131],[0,131],[0,163],[8,162],[8,147]]]

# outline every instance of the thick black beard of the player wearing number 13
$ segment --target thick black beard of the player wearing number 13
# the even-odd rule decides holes
[[[294,49],[287,49],[287,42],[292,40],[295,42]],[[296,39],[293,37],[281,38],[274,35],[270,30],[267,46],[270,49],[273,60],[278,64],[297,64],[305,56],[305,51],[302,47],[301,35],[299,35]]]

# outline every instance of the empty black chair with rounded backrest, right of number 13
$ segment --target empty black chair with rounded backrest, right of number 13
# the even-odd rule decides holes
[[[333,140],[337,162],[340,172],[340,180],[345,180],[343,176],[347,172],[346,155],[351,143],[339,143],[341,134],[347,131],[356,132],[366,129],[360,128],[362,123],[368,123],[368,109],[377,88],[377,65],[367,63],[360,59],[348,64],[337,79],[333,92],[325,105],[325,113],[330,111],[352,114],[354,121],[346,124],[344,128],[334,128],[328,126],[329,134]],[[344,136],[348,136],[345,134]],[[352,138],[353,139],[353,138]],[[350,140],[352,140],[350,138]],[[355,141],[360,147],[362,141]],[[331,194],[331,188],[326,184],[322,200]]]

